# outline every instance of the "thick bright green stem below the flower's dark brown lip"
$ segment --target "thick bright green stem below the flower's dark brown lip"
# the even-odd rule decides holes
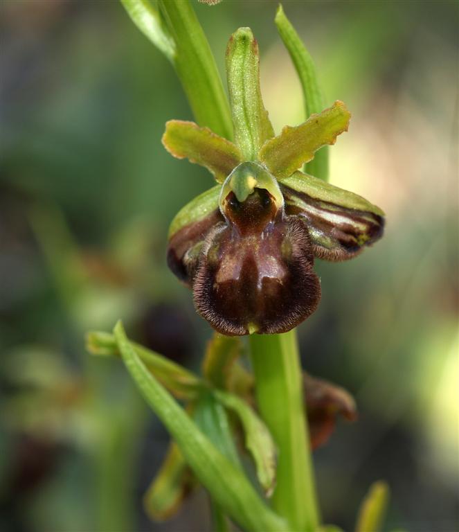
[[[296,330],[251,335],[250,345],[258,408],[278,446],[273,508],[292,532],[315,532],[319,516]]]

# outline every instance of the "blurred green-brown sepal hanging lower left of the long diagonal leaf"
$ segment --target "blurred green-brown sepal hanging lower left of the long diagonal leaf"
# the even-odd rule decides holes
[[[156,521],[172,517],[194,484],[190,468],[179,447],[176,443],[171,443],[161,469],[143,497],[145,511]]]

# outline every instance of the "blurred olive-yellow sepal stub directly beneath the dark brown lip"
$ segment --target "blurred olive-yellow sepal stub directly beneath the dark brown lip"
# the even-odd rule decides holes
[[[228,381],[235,361],[242,354],[241,339],[215,332],[208,342],[202,373],[215,387],[228,389]]]

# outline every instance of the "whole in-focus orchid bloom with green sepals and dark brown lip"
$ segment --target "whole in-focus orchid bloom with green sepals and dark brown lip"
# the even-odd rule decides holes
[[[311,67],[300,64],[304,55],[281,18],[278,12],[281,34],[298,69],[307,72]],[[192,287],[198,312],[217,331],[287,332],[318,305],[314,257],[345,260],[359,254],[381,237],[384,213],[299,170],[348,130],[350,112],[342,102],[274,136],[250,28],[231,36],[226,73],[234,143],[194,123],[166,124],[165,148],[204,166],[222,184],[174,218],[168,264]]]

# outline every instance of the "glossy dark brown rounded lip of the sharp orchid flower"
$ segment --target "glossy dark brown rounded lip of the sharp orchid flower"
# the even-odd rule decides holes
[[[263,188],[244,202],[230,192],[224,214],[227,223],[210,231],[199,257],[198,312],[225,335],[290,330],[321,296],[307,227],[285,217]]]

